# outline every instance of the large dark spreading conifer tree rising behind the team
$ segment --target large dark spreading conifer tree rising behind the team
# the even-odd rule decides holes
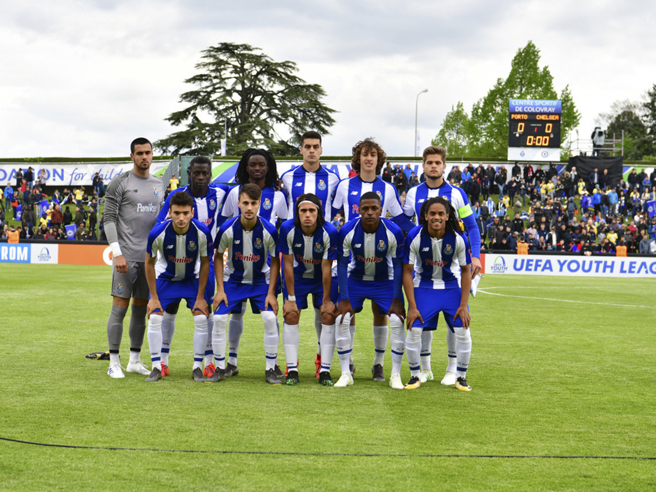
[[[335,110],[321,102],[325,91],[295,75],[294,62],[275,62],[259,48],[234,43],[202,53],[195,66],[199,73],[185,80],[195,89],[180,96],[190,106],[166,118],[186,129],[155,142],[163,152],[215,155],[220,139],[226,138],[231,155],[254,146],[297,154],[300,135],[307,130],[328,133],[335,123]],[[291,136],[283,138],[281,131]]]

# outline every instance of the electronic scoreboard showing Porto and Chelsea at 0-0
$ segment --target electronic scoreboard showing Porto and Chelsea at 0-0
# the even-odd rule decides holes
[[[509,161],[560,160],[560,100],[510,99]]]

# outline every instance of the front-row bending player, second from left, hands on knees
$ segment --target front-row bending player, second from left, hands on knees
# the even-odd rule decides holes
[[[276,253],[278,233],[270,222],[257,216],[261,195],[256,184],[242,186],[239,190],[241,215],[223,224],[216,236],[215,326],[212,334],[216,373],[209,381],[215,382],[225,376],[228,314],[250,299],[260,310],[264,322],[265,380],[270,384],[282,383],[275,371],[279,342],[276,321],[276,284],[280,272],[280,260]],[[226,249],[228,264],[223,268]]]

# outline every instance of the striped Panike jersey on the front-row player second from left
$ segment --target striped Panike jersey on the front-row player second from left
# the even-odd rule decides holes
[[[228,249],[228,262],[223,270],[223,281],[268,285],[268,259],[276,256],[278,232],[268,222],[257,218],[255,227],[244,230],[240,216],[228,220],[216,236],[216,251],[221,255]]]

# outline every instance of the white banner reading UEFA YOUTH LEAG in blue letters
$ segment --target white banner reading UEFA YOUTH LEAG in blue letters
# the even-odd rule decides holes
[[[656,258],[648,256],[481,255],[484,274],[564,277],[656,278]]]

